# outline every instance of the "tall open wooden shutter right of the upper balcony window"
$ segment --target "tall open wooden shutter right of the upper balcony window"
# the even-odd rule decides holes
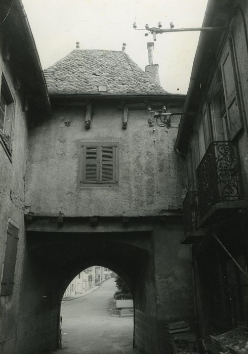
[[[242,128],[242,123],[238,108],[234,77],[234,66],[232,63],[232,56],[230,52],[229,43],[227,52],[225,52],[225,56],[221,63],[221,70],[226,102],[229,138],[233,139],[236,136],[237,132]]]

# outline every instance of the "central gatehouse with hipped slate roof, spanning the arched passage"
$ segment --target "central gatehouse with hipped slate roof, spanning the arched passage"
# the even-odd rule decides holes
[[[147,107],[180,112],[184,96],[162,90],[125,52],[77,49],[45,76],[53,113],[28,131],[30,212],[18,353],[58,345],[63,293],[95,264],[130,286],[134,346],[164,353],[170,321],[194,324],[190,248],[179,243],[184,162],[174,150],[178,117],[171,129],[153,132]],[[106,164],[98,155],[104,147],[114,151]]]

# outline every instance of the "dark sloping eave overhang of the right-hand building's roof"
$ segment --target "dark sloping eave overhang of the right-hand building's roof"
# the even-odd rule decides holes
[[[196,54],[193,61],[192,72],[190,76],[189,88],[183,107],[178,135],[175,143],[175,149],[182,153],[187,151],[188,139],[192,131],[192,125],[195,117],[201,108],[205,99],[206,90],[210,84],[213,69],[217,62],[220,44],[227,32],[229,20],[234,14],[234,9],[240,4],[240,1],[212,0],[208,2],[202,27],[223,26],[227,29],[223,32],[204,32],[200,33]],[[186,112],[194,112],[195,115],[187,115]]]

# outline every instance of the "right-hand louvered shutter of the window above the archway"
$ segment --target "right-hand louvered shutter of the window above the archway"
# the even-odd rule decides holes
[[[116,182],[115,146],[101,147],[100,182]]]

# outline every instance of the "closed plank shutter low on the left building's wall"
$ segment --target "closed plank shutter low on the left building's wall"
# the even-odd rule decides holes
[[[18,229],[8,224],[5,258],[2,270],[1,296],[11,295],[14,285],[16,254],[18,242]]]

